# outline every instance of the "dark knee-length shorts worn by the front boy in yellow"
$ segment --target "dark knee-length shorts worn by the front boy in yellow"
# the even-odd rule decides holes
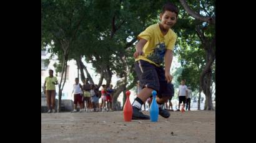
[[[172,95],[170,90],[170,83],[165,80],[165,71],[163,67],[156,67],[155,65],[138,60],[134,63],[135,72],[140,81],[142,89],[152,88],[157,91],[159,98],[169,97]]]

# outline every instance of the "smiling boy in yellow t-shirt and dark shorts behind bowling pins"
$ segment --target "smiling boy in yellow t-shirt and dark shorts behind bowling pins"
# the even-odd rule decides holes
[[[134,52],[135,71],[143,89],[132,103],[132,119],[150,119],[139,111],[153,90],[157,91],[160,116],[164,118],[170,116],[170,113],[160,106],[171,95],[170,65],[177,35],[170,28],[176,23],[178,14],[177,6],[168,2],[162,7],[159,24],[150,25],[138,35],[139,42]]]

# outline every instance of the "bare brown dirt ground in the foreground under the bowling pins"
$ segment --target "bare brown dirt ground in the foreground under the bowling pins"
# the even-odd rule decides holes
[[[144,111],[149,115],[149,112]],[[41,142],[215,142],[215,111],[124,122],[122,111],[41,114]]]

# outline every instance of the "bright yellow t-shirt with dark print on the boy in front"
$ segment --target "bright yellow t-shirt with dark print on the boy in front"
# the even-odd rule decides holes
[[[135,61],[145,60],[159,67],[164,62],[165,50],[174,49],[177,34],[169,29],[167,34],[163,35],[159,24],[154,24],[147,27],[137,38],[145,39],[147,43],[143,47],[144,55],[139,55]]]

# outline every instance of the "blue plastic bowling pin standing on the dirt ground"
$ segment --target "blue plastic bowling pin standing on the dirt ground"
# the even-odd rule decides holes
[[[158,114],[159,114],[159,109],[158,109],[158,105],[157,105],[157,101],[156,101],[157,92],[155,90],[153,90],[152,95],[153,95],[153,100],[152,100],[152,103],[151,103],[150,109],[149,109],[150,121],[157,122]]]

